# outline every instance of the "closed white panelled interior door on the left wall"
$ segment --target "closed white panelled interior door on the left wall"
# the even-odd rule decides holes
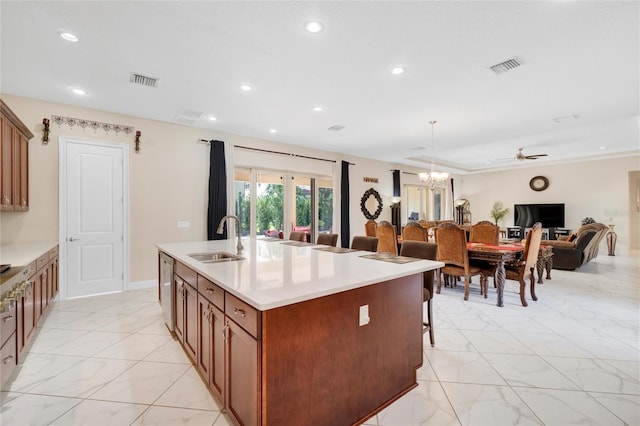
[[[124,290],[124,147],[70,142],[66,148],[66,296]]]

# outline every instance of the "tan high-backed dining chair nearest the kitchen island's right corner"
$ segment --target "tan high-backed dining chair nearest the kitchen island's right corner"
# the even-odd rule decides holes
[[[464,300],[469,299],[471,277],[480,275],[480,294],[483,294],[487,281],[486,274],[482,268],[469,263],[465,230],[455,223],[442,223],[436,228],[435,236],[438,245],[438,260],[445,264],[438,273],[437,293],[440,294],[441,275],[444,274],[464,278]]]

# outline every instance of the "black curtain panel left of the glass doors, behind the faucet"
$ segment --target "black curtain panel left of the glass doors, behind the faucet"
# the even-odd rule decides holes
[[[217,234],[220,220],[227,214],[227,168],[224,161],[224,142],[210,141],[209,159],[209,209],[207,212],[207,235],[209,240],[227,238],[227,227]]]

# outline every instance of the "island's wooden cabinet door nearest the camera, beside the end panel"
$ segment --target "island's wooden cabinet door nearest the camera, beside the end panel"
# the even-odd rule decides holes
[[[261,383],[258,341],[233,321],[226,321],[227,410],[238,424],[257,425]]]

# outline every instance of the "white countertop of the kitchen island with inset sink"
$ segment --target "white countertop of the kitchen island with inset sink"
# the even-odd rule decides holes
[[[360,256],[366,251],[330,253],[314,247],[294,247],[286,240],[243,239],[246,260],[202,263],[189,254],[222,250],[236,253],[237,240],[157,244],[160,251],[259,310],[302,302],[369,284],[400,278],[444,266],[418,260],[395,264]],[[324,246],[326,247],[326,246]]]

